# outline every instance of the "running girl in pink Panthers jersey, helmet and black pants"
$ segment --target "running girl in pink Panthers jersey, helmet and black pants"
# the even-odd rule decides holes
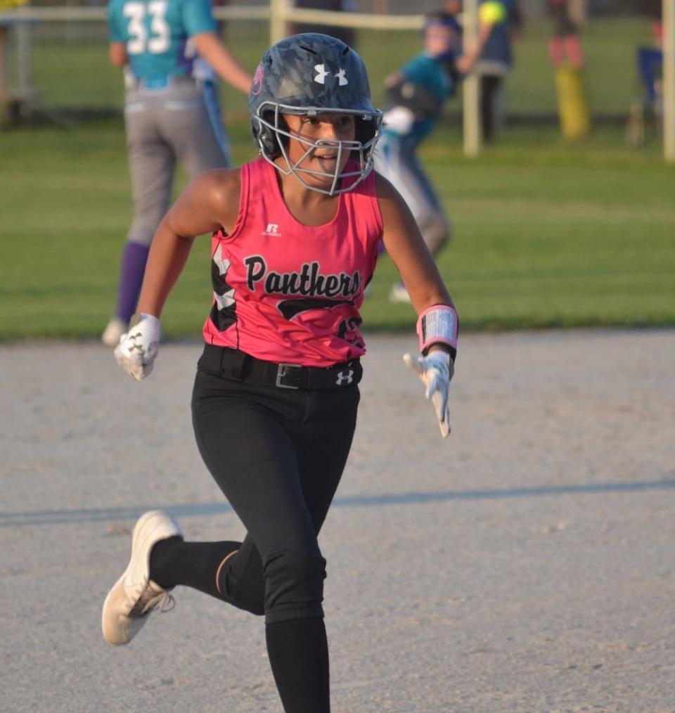
[[[421,356],[404,360],[443,436],[457,314],[405,202],[371,170],[381,112],[353,50],[323,34],[280,41],[255,73],[249,113],[260,157],[208,171],[183,191],[155,234],[138,322],[115,349],[135,379],[150,373],[165,300],[195,236],[210,233],[214,299],[192,423],[247,535],[184,542],[169,515],[145,513],[128,568],[105,598],[103,635],[128,644],[153,609],[170,606],[168,590],[190,586],[264,615],[284,711],[328,713],[317,535],[356,426],[366,352],[359,310],[380,242],[419,315]]]

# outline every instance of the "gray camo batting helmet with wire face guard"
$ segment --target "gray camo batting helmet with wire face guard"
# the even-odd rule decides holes
[[[287,37],[264,53],[249,93],[249,113],[254,140],[262,156],[282,173],[292,173],[307,188],[335,195],[361,183],[373,168],[373,147],[380,138],[382,112],[373,108],[366,67],[359,55],[344,42],[328,35],[308,32]],[[306,153],[292,163],[287,155],[290,138],[284,114],[317,116],[321,113],[354,114],[354,141],[329,142],[338,145],[339,155],[349,153],[359,163],[358,170],[348,164],[339,173],[300,168],[299,164],[317,146],[326,145],[294,136],[306,145]],[[288,169],[274,163],[283,156]],[[332,179],[324,190],[309,185],[303,174],[323,175]],[[350,178],[340,188],[341,178]]]

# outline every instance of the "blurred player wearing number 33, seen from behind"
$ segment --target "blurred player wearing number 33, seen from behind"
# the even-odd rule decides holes
[[[209,0],[111,0],[108,29],[110,61],[125,68],[134,204],[117,309],[101,337],[103,344],[114,346],[135,312],[150,242],[169,207],[177,160],[191,177],[228,165],[224,135],[210,116],[198,67],[195,76],[197,53],[243,92],[249,90],[251,76],[217,36]]]

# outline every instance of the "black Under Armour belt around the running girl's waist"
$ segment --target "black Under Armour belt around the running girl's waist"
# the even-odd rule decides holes
[[[204,345],[197,366],[237,381],[254,376],[279,389],[336,389],[339,386],[353,386],[361,381],[364,373],[359,359],[327,367],[277,364],[255,359],[239,349],[217,347],[215,344]]]

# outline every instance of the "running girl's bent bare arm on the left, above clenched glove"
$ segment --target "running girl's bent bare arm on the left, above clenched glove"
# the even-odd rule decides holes
[[[232,230],[239,210],[239,185],[239,170],[212,170],[193,180],[180,194],[153,237],[138,312],[160,317],[195,236],[220,227]]]

